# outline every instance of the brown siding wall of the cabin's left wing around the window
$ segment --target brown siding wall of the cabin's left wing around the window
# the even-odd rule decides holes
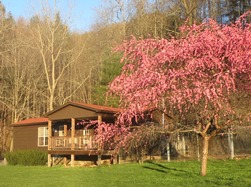
[[[13,128],[13,151],[37,149],[48,150],[48,146],[38,146],[38,128],[47,124],[22,125]]]

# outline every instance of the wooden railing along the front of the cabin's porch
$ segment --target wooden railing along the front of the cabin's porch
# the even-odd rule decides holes
[[[51,137],[51,148],[52,149],[71,149],[72,143],[75,144],[75,149],[97,149],[98,144],[94,140],[94,136],[75,136],[74,142],[71,137]]]

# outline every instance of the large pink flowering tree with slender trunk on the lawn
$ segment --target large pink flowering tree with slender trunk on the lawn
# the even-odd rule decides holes
[[[251,90],[251,24],[245,17],[231,25],[213,20],[185,25],[178,39],[124,42],[118,48],[124,54],[122,73],[110,86],[127,109],[118,123],[130,124],[146,108],[162,109],[163,101],[166,113],[170,108],[181,116],[196,113],[192,128],[203,138],[201,175],[206,175],[209,140],[239,115],[234,94]]]

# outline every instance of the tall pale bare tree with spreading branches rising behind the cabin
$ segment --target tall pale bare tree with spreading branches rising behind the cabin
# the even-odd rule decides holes
[[[48,5],[48,4],[47,4]],[[56,6],[56,5],[55,5]],[[48,108],[52,110],[57,98],[57,89],[66,71],[79,59],[82,45],[70,46],[70,30],[59,12],[42,4],[42,12],[33,17],[30,23],[32,48],[36,49],[43,64],[47,82]]]

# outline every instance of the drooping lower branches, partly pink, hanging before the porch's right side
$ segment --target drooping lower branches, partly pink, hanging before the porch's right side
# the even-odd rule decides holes
[[[98,122],[95,120],[79,122],[85,128],[95,129],[95,141],[101,149],[123,151],[131,159],[141,162],[145,156],[160,154],[171,138],[162,126],[153,122],[144,122],[128,128],[119,123]]]

